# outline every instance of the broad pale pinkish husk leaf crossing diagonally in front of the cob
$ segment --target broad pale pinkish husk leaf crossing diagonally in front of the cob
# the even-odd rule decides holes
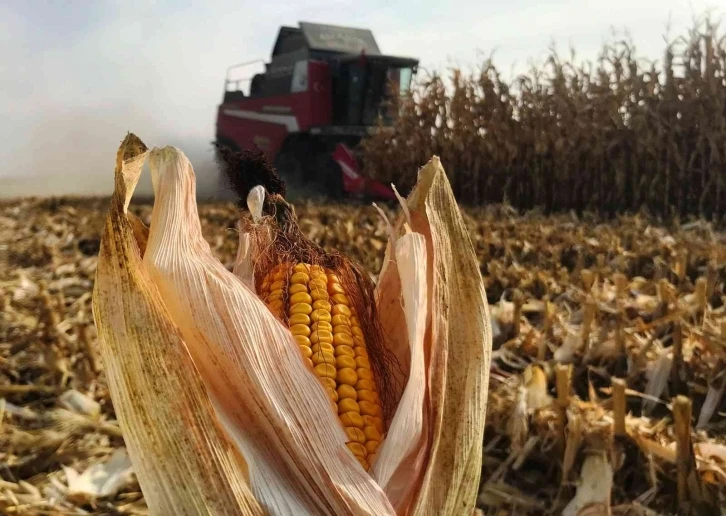
[[[264,303],[212,255],[184,154],[150,156],[155,202],[145,264],[199,368],[256,498],[271,514],[394,514],[345,446],[322,385]]]

